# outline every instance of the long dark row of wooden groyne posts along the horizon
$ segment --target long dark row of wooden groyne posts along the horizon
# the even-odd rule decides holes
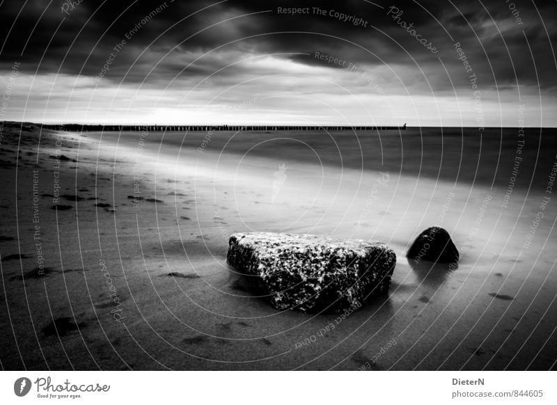
[[[347,125],[80,125],[80,124],[42,124],[45,129],[68,132],[209,132],[209,131],[387,131],[405,130],[402,127],[347,126]]]

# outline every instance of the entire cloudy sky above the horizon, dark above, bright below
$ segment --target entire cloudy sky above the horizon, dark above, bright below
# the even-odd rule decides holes
[[[0,120],[557,126],[556,1],[70,3],[1,1]]]

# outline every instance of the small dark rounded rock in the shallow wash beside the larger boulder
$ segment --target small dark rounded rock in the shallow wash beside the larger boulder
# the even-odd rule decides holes
[[[406,256],[418,262],[427,260],[438,263],[455,263],[460,257],[448,232],[438,226],[427,228],[418,235]]]

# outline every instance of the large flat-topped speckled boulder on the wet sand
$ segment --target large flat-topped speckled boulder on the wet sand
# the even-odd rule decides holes
[[[396,255],[381,242],[255,232],[230,236],[227,262],[278,310],[339,312],[388,291]]]

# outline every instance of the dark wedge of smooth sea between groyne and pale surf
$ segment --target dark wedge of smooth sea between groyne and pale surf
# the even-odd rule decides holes
[[[554,128],[409,128],[366,132],[214,132],[164,135],[164,143],[205,152],[255,155],[356,170],[382,170],[415,177],[506,187],[544,189],[557,154]],[[125,135],[126,136],[126,135]],[[134,135],[132,135],[134,136]],[[135,135],[137,136],[137,135]],[[158,141],[162,134],[150,134]],[[183,143],[182,143],[183,141]],[[515,165],[515,158],[519,164]]]

